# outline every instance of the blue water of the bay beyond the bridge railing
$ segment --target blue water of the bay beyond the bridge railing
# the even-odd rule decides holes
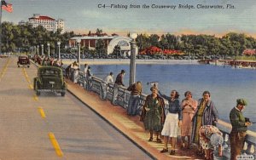
[[[113,71],[114,77],[125,69],[125,86],[129,83],[128,65],[95,65],[91,71],[96,77],[105,77]],[[256,122],[256,70],[233,69],[231,67],[210,65],[137,65],[136,81],[143,83],[143,93],[150,94],[148,82],[159,82],[162,93],[169,95],[172,89],[184,98],[190,90],[193,98],[201,98],[203,91],[211,93],[211,99],[218,109],[219,117],[230,123],[230,110],[236,106],[236,99],[245,98],[248,106],[244,115]],[[249,129],[256,131],[254,124]]]

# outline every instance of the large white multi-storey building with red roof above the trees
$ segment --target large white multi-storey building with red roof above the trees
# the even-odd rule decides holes
[[[33,16],[28,19],[28,23],[32,25],[32,27],[44,26],[47,31],[57,31],[58,28],[61,28],[61,33],[65,32],[64,20],[55,20],[45,15],[33,14]]]

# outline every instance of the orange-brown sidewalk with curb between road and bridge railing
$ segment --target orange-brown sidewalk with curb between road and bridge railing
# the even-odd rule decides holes
[[[169,153],[160,153],[164,144],[156,143],[155,137],[149,142],[149,133],[144,130],[143,123],[139,121],[139,117],[131,117],[121,106],[113,106],[108,100],[101,100],[99,95],[94,92],[84,90],[79,84],[74,84],[70,80],[67,81],[67,90],[81,100],[85,105],[89,106],[100,117],[111,124],[115,129],[119,130],[136,146],[147,152],[154,159],[199,159],[195,157],[195,148],[190,150],[180,150],[180,144],[177,145],[176,155],[171,156]],[[180,141],[180,140],[177,140]],[[168,144],[170,149],[170,144]],[[131,153],[132,154],[132,153]]]

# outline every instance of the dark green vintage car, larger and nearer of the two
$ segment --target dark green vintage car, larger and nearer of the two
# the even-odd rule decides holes
[[[64,81],[62,69],[57,66],[40,66],[38,77],[34,78],[34,90],[37,95],[41,92],[56,92],[65,96],[67,83]]]

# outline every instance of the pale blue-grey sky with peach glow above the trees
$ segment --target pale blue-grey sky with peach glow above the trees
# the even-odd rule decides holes
[[[230,31],[256,37],[255,0],[5,0],[13,4],[13,13],[3,11],[3,21],[18,24],[32,14],[47,15],[65,21],[66,31],[127,34],[172,33],[224,35]],[[111,6],[105,7],[102,6]],[[144,9],[143,4],[149,8]],[[222,9],[198,9],[198,5],[223,6]],[[230,4],[230,8],[227,5]],[[122,8],[114,8],[116,5]],[[125,9],[125,6],[127,8]],[[136,5],[140,8],[130,8]],[[194,9],[178,9],[179,5]],[[118,6],[118,7],[119,7]],[[154,6],[176,6],[155,9]],[[101,8],[100,8],[101,7]]]

